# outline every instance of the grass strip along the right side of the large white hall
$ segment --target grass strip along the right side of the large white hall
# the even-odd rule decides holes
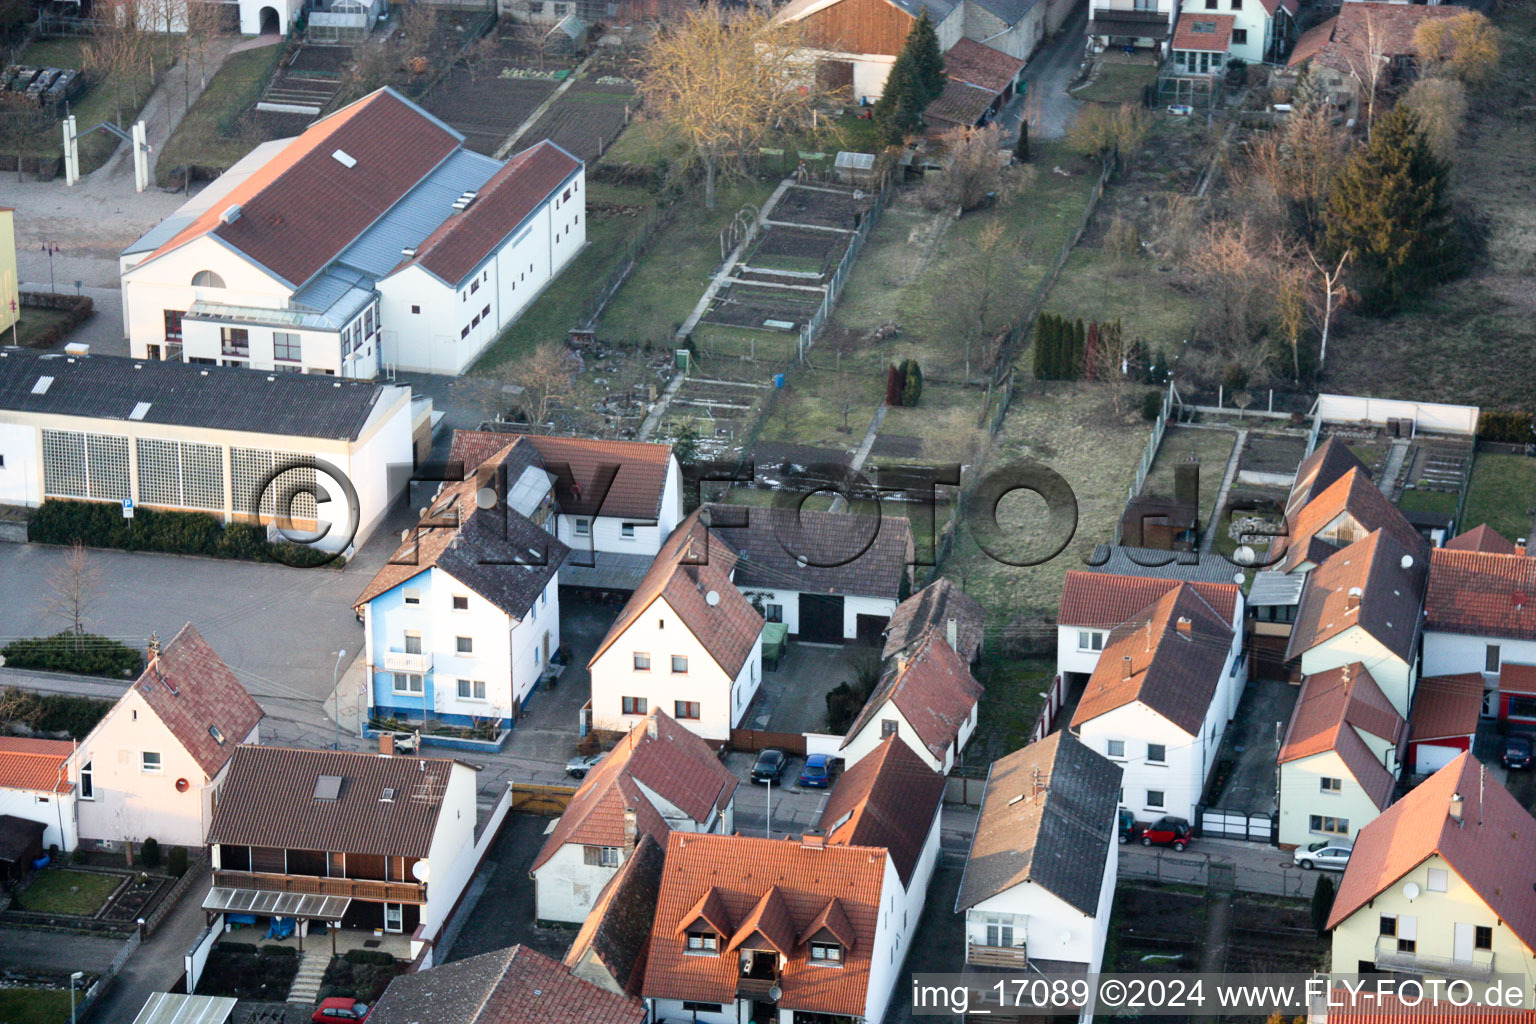
[[[475,373],[493,373],[505,362],[531,352],[541,342],[564,339],[598,289],[624,259],[630,239],[636,236],[645,221],[644,215],[598,215],[591,212],[591,207],[619,204],[637,206],[648,212],[654,209],[656,197],[644,189],[590,181],[587,203],[587,247],[533,299],[522,316],[492,342],[485,355],[475,364]],[[653,247],[648,258],[656,258],[657,252],[660,250]]]

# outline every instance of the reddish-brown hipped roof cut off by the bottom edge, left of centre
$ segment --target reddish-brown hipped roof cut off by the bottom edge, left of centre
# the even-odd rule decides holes
[[[375,1024],[644,1024],[639,999],[578,978],[527,946],[455,960],[390,981]]]

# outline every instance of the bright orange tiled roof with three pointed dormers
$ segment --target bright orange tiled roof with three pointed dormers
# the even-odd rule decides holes
[[[852,933],[842,967],[813,966],[809,947],[796,941],[779,976],[779,1007],[863,1016],[883,884],[885,851],[879,849],[673,832],[667,843],[644,993],[653,999],[734,1003],[739,958],[690,956],[684,952],[679,926],[696,915],[705,897],[713,897],[716,912],[727,918],[714,927],[731,935],[763,894],[777,887],[796,940],[826,912],[833,898],[842,904],[846,929]]]

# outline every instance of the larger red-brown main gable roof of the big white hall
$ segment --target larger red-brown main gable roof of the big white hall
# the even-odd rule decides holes
[[[298,287],[458,149],[459,138],[393,89],[370,92],[310,124],[147,259],[215,235]],[[356,163],[343,164],[332,155],[338,150]],[[240,218],[224,224],[230,206],[240,206]]]

